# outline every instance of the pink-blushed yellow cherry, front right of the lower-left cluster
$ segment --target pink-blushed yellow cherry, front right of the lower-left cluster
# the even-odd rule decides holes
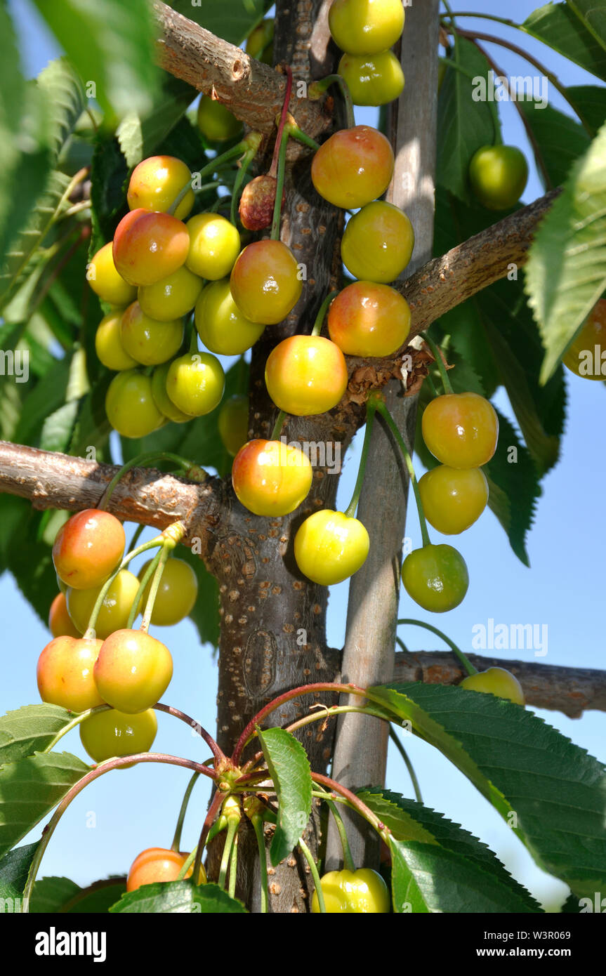
[[[127,714],[155,705],[172,676],[168,647],[142,630],[110,633],[95,665],[95,682],[104,701]]]

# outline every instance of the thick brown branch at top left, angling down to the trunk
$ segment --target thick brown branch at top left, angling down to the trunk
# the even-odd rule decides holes
[[[160,28],[156,47],[160,67],[199,92],[214,94],[251,129],[263,133],[275,129],[284,101],[283,75],[164,3],[156,2],[154,12]],[[299,98],[295,86],[290,110],[303,131],[315,138],[331,124],[331,104],[332,100]]]

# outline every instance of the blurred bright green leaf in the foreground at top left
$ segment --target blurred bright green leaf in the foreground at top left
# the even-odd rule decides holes
[[[87,94],[110,115],[146,111],[158,83],[154,25],[146,0],[34,0]]]

